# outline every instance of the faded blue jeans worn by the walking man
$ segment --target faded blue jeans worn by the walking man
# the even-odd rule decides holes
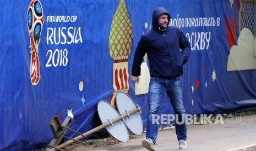
[[[149,83],[149,114],[146,127],[146,138],[150,138],[156,143],[156,137],[159,130],[159,125],[152,122],[152,118],[160,113],[162,100],[165,92],[170,98],[173,110],[178,116],[179,123],[175,120],[175,129],[178,140],[187,140],[186,122],[181,123],[182,118],[186,117],[186,111],[182,102],[182,78],[181,76],[175,79],[160,79],[150,78]]]

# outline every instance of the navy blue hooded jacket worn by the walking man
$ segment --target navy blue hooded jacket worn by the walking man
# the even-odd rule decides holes
[[[141,36],[135,51],[132,75],[140,75],[140,65],[144,55],[148,54],[150,77],[173,79],[183,74],[183,64],[190,56],[190,43],[185,34],[176,26],[161,30],[159,16],[170,14],[164,8],[156,8],[152,15],[152,29]],[[169,24],[168,22],[168,24]]]

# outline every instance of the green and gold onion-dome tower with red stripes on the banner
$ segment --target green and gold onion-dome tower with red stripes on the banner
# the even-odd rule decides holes
[[[128,57],[132,47],[133,31],[132,22],[126,7],[125,0],[120,0],[116,13],[113,16],[109,46],[110,56],[113,58],[113,88],[111,104],[116,106],[115,98],[118,91],[128,92],[129,73]]]

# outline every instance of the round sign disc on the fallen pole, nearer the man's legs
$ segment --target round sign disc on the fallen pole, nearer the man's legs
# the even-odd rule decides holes
[[[133,102],[132,98],[130,98],[130,96],[122,91],[119,91],[117,93],[116,103],[117,109],[121,115],[131,111],[134,108],[137,108],[137,105]],[[129,115],[129,117],[124,118],[124,123],[126,123],[128,129],[132,131],[135,135],[141,135],[141,133],[143,132],[143,122],[139,112],[136,112],[132,115]]]

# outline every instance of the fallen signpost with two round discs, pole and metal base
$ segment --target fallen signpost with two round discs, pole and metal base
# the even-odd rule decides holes
[[[48,151],[53,151],[55,149],[60,150],[61,148],[64,148],[75,141],[83,143],[79,141],[81,138],[89,136],[92,133],[95,133],[104,128],[106,128],[110,135],[115,137],[120,142],[127,142],[129,140],[127,127],[134,134],[140,135],[143,131],[143,123],[139,112],[140,107],[133,102],[132,98],[130,98],[126,93],[122,91],[117,93],[116,102],[120,114],[114,107],[111,106],[110,103],[101,100],[97,104],[97,112],[99,114],[102,125],[84,133],[80,133],[69,128],[70,124],[72,123],[69,116],[63,121],[62,125],[59,123],[57,117],[54,117],[50,123],[50,127],[55,137],[52,139],[51,143],[48,144],[48,147],[50,147]],[[67,131],[66,129],[78,133],[79,136],[75,138],[64,136]],[[70,140],[59,144],[64,137],[69,138]]]

